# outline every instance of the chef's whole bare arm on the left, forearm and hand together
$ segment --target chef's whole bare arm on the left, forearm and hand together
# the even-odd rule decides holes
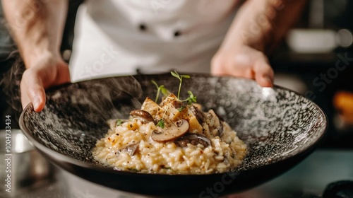
[[[20,82],[21,103],[32,102],[36,112],[45,105],[45,88],[70,81],[68,65],[61,58],[60,47],[68,10],[63,0],[2,0],[6,24],[25,63]],[[35,8],[35,9],[33,9]],[[18,23],[18,13],[28,13]]]

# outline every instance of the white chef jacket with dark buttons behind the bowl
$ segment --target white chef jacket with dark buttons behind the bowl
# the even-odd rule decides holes
[[[86,0],[76,18],[71,81],[209,72],[239,0]]]

